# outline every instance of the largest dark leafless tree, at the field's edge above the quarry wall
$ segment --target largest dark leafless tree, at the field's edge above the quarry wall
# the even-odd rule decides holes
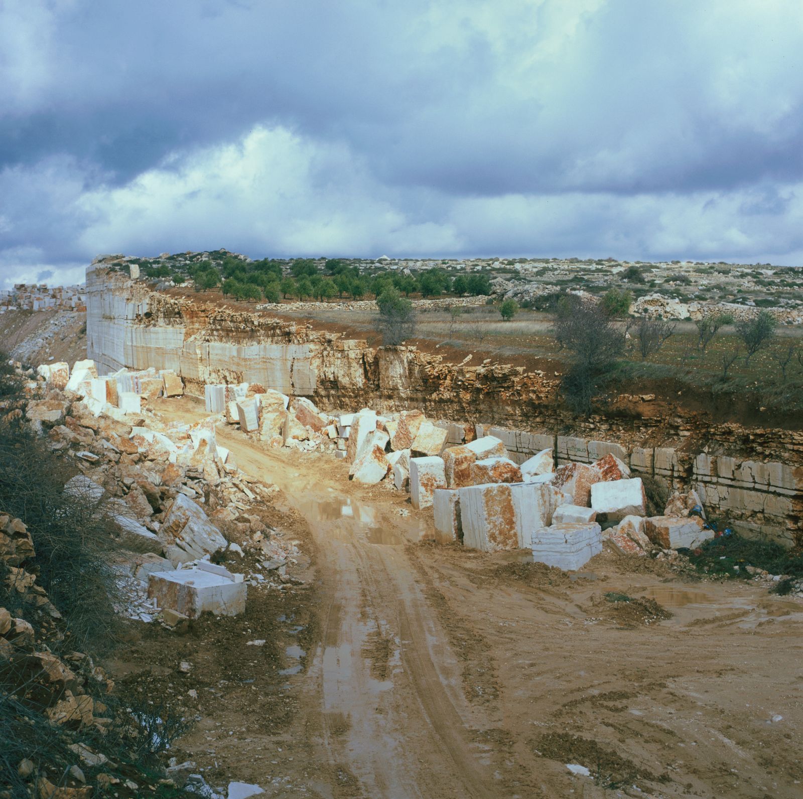
[[[625,350],[625,331],[611,321],[594,298],[561,298],[553,324],[558,347],[571,353],[572,365],[561,383],[566,400],[589,412],[593,396]]]

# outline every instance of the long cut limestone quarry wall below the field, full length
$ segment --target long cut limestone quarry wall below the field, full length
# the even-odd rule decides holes
[[[99,372],[173,369],[198,396],[206,383],[259,383],[329,411],[420,408],[483,424],[515,460],[554,448],[558,462],[614,452],[667,487],[693,486],[740,532],[792,541],[803,534],[803,434],[745,430],[684,416],[650,395],[622,395],[606,416],[577,418],[556,402],[556,376],[483,362],[443,363],[414,347],[313,331],[150,291],[107,267],[87,271],[88,357]],[[454,425],[454,443],[465,427]]]

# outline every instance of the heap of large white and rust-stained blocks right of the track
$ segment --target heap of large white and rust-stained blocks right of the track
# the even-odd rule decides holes
[[[369,408],[336,420],[320,416],[352,479],[407,491],[416,510],[432,507],[438,541],[529,549],[537,562],[579,569],[603,541],[643,556],[693,549],[713,537],[693,491],[675,492],[662,516],[647,517],[642,479],[612,452],[590,464],[556,466],[547,448],[519,465],[482,425],[427,420],[420,411],[381,416]]]

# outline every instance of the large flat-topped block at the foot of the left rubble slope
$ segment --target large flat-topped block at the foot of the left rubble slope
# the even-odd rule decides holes
[[[198,619],[207,611],[216,616],[236,616],[246,609],[247,585],[243,575],[222,571],[226,574],[205,569],[154,572],[149,574],[148,596],[156,599],[162,610],[169,608],[190,619]]]

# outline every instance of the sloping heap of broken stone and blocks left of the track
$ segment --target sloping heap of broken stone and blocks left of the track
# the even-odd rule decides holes
[[[248,586],[289,580],[285,566],[298,550],[258,513],[277,489],[242,473],[218,446],[220,417],[164,424],[148,410],[159,396],[183,393],[174,372],[99,377],[92,360],[71,370],[54,363],[39,367],[29,388],[28,420],[80,469],[65,490],[104,501],[119,546],[121,612],[173,627],[205,611],[241,613]],[[228,389],[224,402],[255,401],[247,388]],[[217,395],[208,392],[208,406],[210,397]],[[220,558],[247,574],[210,562]]]

